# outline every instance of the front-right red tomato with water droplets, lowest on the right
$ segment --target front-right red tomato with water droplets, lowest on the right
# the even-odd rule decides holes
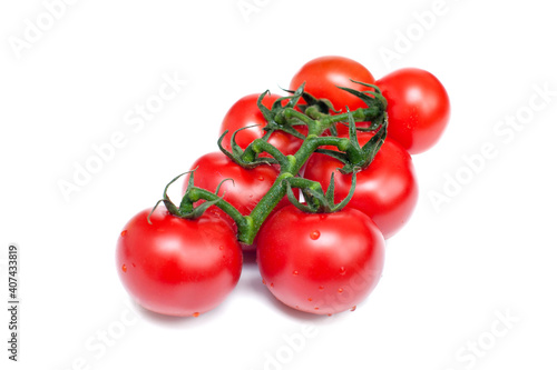
[[[384,240],[362,212],[276,212],[257,236],[263,282],[281,302],[300,311],[332,314],[355,309],[378,284]]]

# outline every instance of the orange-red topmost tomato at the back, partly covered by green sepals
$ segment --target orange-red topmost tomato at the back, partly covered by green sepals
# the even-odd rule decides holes
[[[338,87],[351,88],[358,91],[369,88],[350,80],[374,83],[371,72],[359,62],[344,57],[321,57],[305,63],[290,82],[290,90],[296,90],[305,82],[304,90],[317,99],[329,99],[336,110],[345,111],[365,108],[365,103]]]

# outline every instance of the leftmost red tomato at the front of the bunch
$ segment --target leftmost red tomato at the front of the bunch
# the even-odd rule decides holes
[[[242,272],[242,250],[228,222],[206,213],[196,220],[159,207],[137,213],[117,242],[118,274],[147,310],[198,316],[217,307]]]

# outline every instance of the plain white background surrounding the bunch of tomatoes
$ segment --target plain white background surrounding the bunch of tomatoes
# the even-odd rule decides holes
[[[250,13],[238,0],[69,2],[0,6],[6,304],[7,248],[21,251],[20,361],[8,361],[2,309],[2,369],[556,369],[549,2],[246,0]],[[232,103],[281,92],[324,54],[355,59],[375,78],[427,69],[451,98],[442,140],[414,157],[420,200],[388,241],[373,294],[354,312],[296,313],[267,293],[252,261],[229,298],[198,318],[130,303],[115,266],[126,221],[216,149]],[[164,76],[187,84],[144,127],[126,124]],[[116,132],[121,148],[65,199],[59,182]],[[496,154],[481,164],[483,146]],[[436,208],[432,192],[448,201]]]

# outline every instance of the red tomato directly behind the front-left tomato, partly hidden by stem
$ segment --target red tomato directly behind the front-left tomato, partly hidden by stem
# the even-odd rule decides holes
[[[274,166],[262,164],[247,170],[232,161],[222,152],[213,152],[197,159],[192,166],[196,169],[194,174],[194,184],[198,188],[215,192],[217,186],[225,179],[219,196],[224,194],[224,200],[234,206],[240,213],[247,216],[252,212],[260,200],[267,193],[278,177],[278,170]],[[184,181],[184,192],[187,188],[189,176]],[[297,193],[297,189],[295,189]],[[273,211],[290,204],[284,197]],[[213,209],[216,207],[211,207]],[[253,251],[254,247],[242,244],[245,251]]]

